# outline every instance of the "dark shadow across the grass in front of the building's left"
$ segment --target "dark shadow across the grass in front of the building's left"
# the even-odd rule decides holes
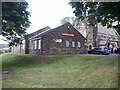
[[[12,55],[12,54],[11,54]],[[24,68],[24,67],[40,67],[47,64],[56,63],[59,60],[71,57],[71,55],[52,55],[52,56],[45,56],[45,55],[24,55],[24,54],[17,54],[11,56],[9,59],[9,55],[7,54],[3,56],[3,59],[8,57],[5,60],[2,60],[2,70],[14,70],[17,68]]]

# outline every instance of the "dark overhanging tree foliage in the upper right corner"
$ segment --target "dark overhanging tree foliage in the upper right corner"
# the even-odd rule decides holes
[[[95,1],[95,0],[94,0]],[[115,28],[120,34],[120,2],[70,2],[75,16],[87,19],[89,24],[96,26],[101,23],[108,28]]]

